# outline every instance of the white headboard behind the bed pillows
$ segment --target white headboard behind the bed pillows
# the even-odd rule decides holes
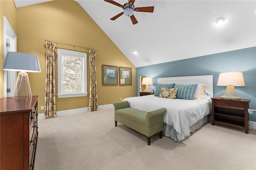
[[[176,83],[176,84],[204,83],[206,85],[205,88],[211,94],[211,98],[213,97],[213,76],[212,75],[157,78],[157,83],[161,83],[161,84],[165,84],[165,83]]]

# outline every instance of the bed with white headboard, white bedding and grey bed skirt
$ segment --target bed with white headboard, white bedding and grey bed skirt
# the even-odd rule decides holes
[[[158,95],[146,95],[140,97],[128,97],[123,101],[128,101],[130,107],[142,111],[152,111],[159,108],[166,108],[164,114],[164,136],[168,136],[175,141],[182,141],[190,136],[190,133],[202,127],[210,121],[212,109],[211,98],[213,97],[213,76],[186,76],[186,77],[165,77],[158,78],[158,85],[169,85],[175,83],[177,87],[204,84],[203,94],[200,99],[169,99]],[[197,87],[195,87],[197,88]],[[177,90],[179,91],[179,89]],[[177,92],[178,95],[178,92]]]

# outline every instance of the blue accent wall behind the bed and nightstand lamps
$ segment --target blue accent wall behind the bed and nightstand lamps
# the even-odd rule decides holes
[[[159,77],[213,75],[213,95],[220,97],[224,95],[226,86],[217,86],[219,73],[230,70],[243,73],[246,85],[235,87],[236,95],[242,99],[250,99],[250,109],[256,109],[256,47],[137,67],[136,77],[152,77],[153,85],[150,85],[150,89],[154,90]],[[138,94],[138,82],[136,85]],[[256,113],[249,114],[249,119],[256,122]]]

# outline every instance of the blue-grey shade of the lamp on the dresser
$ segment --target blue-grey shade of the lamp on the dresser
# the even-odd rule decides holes
[[[41,72],[36,55],[19,52],[7,52],[3,70]]]

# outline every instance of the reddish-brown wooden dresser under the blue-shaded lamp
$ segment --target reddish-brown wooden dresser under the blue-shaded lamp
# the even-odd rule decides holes
[[[0,170],[33,170],[38,96],[0,99]]]

